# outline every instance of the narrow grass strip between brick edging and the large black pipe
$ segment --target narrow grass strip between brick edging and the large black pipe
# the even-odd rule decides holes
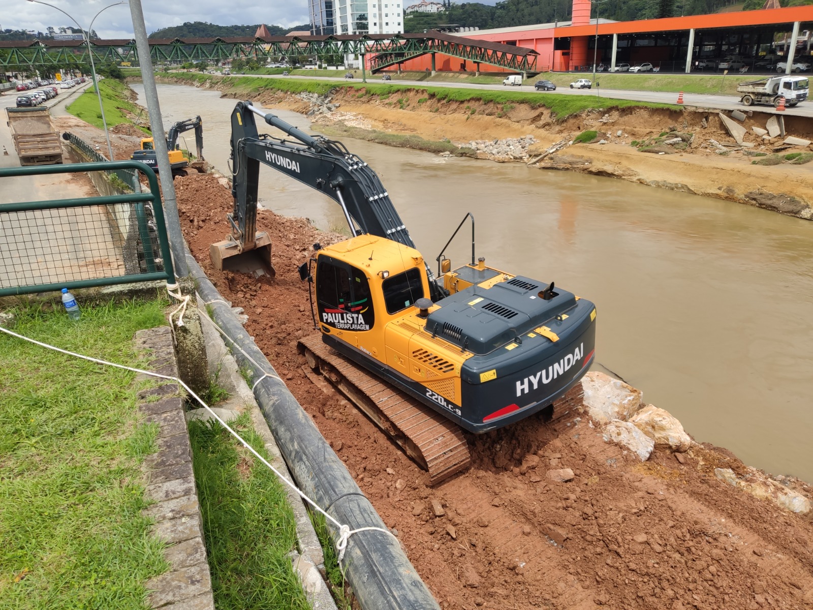
[[[248,413],[232,424],[260,455]],[[192,462],[218,610],[310,608],[288,553],[293,512],[276,475],[217,422],[189,423]]]

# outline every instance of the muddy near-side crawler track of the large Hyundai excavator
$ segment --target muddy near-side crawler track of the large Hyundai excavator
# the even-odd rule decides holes
[[[359,407],[429,473],[436,485],[471,465],[463,430],[418,400],[357,367],[322,342],[321,334],[299,340],[308,365]]]

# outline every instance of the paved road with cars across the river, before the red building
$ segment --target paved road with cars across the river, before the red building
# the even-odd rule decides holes
[[[265,78],[299,78],[305,80],[322,80],[322,81],[341,81],[347,82],[344,78],[332,78],[330,76],[264,76]],[[574,80],[579,78],[574,75]],[[600,82],[599,78],[599,82]],[[359,80],[354,79],[353,82],[358,83]],[[371,76],[367,82],[375,83],[380,82],[376,76]],[[426,81],[389,81],[391,84],[399,85],[415,85],[418,87],[453,87],[456,89],[493,89],[502,91],[507,89],[503,85],[474,85],[472,83],[444,83],[444,82],[426,82]],[[533,86],[522,85],[521,87],[511,87],[517,91],[533,92]],[[661,102],[665,104],[673,104],[677,101],[677,94],[672,92],[658,92],[658,91],[636,91],[633,89],[568,89],[559,88],[553,93],[555,95],[600,95],[602,98],[615,98],[615,99],[631,99],[637,102]],[[734,95],[705,95],[705,94],[684,94],[683,101],[686,106],[696,106],[702,108],[715,108],[720,110],[753,110],[754,112],[767,112],[775,114],[776,110],[770,106],[752,106],[749,108],[744,107],[737,96]],[[811,116],[813,117],[813,102],[802,102],[798,107],[788,108],[785,115],[798,115],[798,116]]]

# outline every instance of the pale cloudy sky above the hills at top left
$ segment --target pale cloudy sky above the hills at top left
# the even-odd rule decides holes
[[[49,0],[50,4],[72,15],[87,28],[93,15],[115,0]],[[417,1],[417,0],[416,0]],[[494,4],[497,0],[480,0]],[[409,0],[407,0],[409,2]],[[411,2],[410,2],[411,3]],[[28,0],[0,0],[0,28],[45,32],[49,25],[58,28],[73,24],[51,7]],[[308,0],[141,0],[147,32],[185,21],[208,21],[219,25],[269,24],[289,27],[306,24]],[[104,11],[93,23],[102,38],[133,37],[133,21],[127,5]]]

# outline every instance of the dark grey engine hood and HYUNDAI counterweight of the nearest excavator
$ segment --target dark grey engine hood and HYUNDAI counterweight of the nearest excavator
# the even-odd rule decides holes
[[[595,353],[593,303],[513,277],[442,299],[424,332],[473,355],[460,369],[459,424],[501,428],[550,407],[584,377]]]

